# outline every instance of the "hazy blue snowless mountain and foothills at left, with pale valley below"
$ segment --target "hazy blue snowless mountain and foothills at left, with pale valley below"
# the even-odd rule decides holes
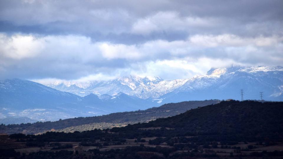
[[[35,121],[54,121],[143,110],[158,105],[124,93],[101,100],[94,94],[80,97],[28,80],[0,81],[0,118],[28,117]]]

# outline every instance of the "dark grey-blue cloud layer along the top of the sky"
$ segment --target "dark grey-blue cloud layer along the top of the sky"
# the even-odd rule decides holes
[[[1,1],[2,32],[80,34],[98,40],[127,42],[134,39],[181,39],[180,32],[160,30],[130,36],[132,25],[158,12],[175,11],[215,19],[217,26],[183,28],[187,34],[282,34],[282,1]],[[168,19],[170,20],[170,19]],[[170,21],[168,21],[170,22]],[[212,21],[213,22],[213,21]],[[274,25],[275,24],[275,25]],[[177,26],[176,26],[177,27]],[[162,28],[161,28],[162,29]],[[258,32],[257,30],[260,30]],[[126,36],[124,36],[126,35]],[[120,38],[119,38],[120,37]],[[124,37],[124,40],[123,38]],[[113,40],[115,39],[115,40]]]

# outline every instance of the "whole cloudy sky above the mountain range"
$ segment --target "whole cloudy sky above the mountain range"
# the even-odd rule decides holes
[[[282,66],[282,8],[282,0],[1,0],[0,79],[173,80]]]

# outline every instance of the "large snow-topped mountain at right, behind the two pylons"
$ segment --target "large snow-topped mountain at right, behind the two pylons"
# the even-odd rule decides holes
[[[203,76],[195,76],[184,85],[162,95],[163,102],[206,99],[283,100],[283,67],[228,67],[211,69]]]

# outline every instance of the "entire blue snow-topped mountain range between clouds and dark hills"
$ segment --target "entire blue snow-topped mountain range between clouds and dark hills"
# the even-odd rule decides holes
[[[190,79],[119,77],[108,81],[64,81],[49,84],[20,79],[0,81],[0,119],[28,117],[55,121],[72,117],[145,110],[165,103],[190,100],[283,100],[283,67],[210,69]],[[11,117],[11,118],[10,118]],[[26,120],[27,121],[27,120]],[[1,122],[1,120],[0,120]]]

